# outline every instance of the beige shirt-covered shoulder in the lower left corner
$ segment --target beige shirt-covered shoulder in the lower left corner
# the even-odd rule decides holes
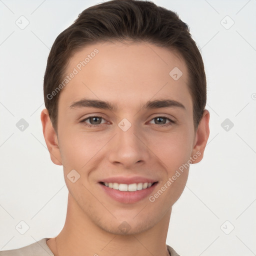
[[[42,238],[39,241],[17,249],[1,250],[0,256],[54,256],[46,243],[47,239],[49,238]]]

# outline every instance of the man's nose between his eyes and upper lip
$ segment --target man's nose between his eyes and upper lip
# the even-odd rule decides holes
[[[136,130],[135,125],[131,125],[126,131],[117,127],[116,132],[109,144],[109,161],[112,164],[132,168],[134,164],[141,165],[149,161],[146,137]]]

